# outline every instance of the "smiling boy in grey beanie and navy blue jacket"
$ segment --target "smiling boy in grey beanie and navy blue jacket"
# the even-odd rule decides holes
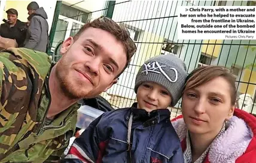
[[[100,115],[60,162],[183,163],[167,107],[181,98],[186,69],[175,55],[149,59],[136,76],[138,103]]]

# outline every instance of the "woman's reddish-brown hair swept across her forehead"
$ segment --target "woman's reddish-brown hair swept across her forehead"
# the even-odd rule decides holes
[[[202,66],[193,70],[187,77],[187,82],[185,83],[185,90],[198,87],[202,84],[210,82],[211,80],[223,77],[230,85],[230,98],[231,105],[236,104],[236,86],[235,77],[230,70],[218,65]]]

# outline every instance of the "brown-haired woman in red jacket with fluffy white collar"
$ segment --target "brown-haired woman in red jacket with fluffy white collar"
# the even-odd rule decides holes
[[[220,66],[200,67],[187,77],[182,115],[172,120],[185,163],[256,162],[256,118],[234,108],[233,75]]]

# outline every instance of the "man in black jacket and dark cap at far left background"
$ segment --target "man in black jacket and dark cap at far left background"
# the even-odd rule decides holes
[[[0,35],[8,39],[15,39],[19,47],[23,46],[26,37],[26,23],[18,18],[18,11],[10,8],[6,11],[8,20],[1,24]]]

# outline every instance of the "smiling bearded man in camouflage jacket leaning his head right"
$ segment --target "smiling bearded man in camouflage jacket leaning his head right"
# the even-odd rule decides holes
[[[43,52],[0,52],[0,162],[56,162],[74,135],[77,101],[107,90],[136,46],[100,17],[63,42],[53,65]]]

